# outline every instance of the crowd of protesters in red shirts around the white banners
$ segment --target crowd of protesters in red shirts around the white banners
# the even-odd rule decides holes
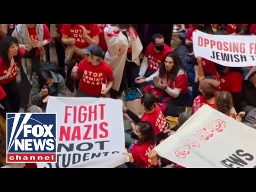
[[[182,167],[153,150],[203,105],[256,127],[255,67],[195,57],[193,32],[255,35],[256,24],[1,24],[0,159],[6,165],[6,113],[44,113],[50,96],[110,97],[138,88],[144,113],[123,104],[124,167]],[[50,47],[58,62],[51,62]],[[170,123],[169,119],[174,119]],[[4,160],[3,160],[4,159]],[[25,167],[36,167],[26,164]]]

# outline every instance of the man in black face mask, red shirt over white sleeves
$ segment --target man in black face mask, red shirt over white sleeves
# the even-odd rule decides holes
[[[172,52],[170,46],[164,42],[162,34],[155,34],[152,36],[153,42],[147,46],[145,56],[141,62],[139,76],[135,79],[135,83],[139,86],[153,85],[153,75],[161,66],[166,53]]]

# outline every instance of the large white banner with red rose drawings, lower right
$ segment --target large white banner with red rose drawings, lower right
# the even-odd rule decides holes
[[[187,168],[256,167],[256,130],[204,105],[157,154]]]

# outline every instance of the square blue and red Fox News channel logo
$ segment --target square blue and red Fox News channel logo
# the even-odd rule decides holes
[[[56,114],[6,116],[7,163],[56,163]]]

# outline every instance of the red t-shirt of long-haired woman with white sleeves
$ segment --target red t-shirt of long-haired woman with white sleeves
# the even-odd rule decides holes
[[[188,92],[188,76],[185,73],[185,71],[181,69],[174,81],[169,80],[169,87],[171,89],[174,89],[174,88],[182,89],[182,91],[180,92],[181,94],[187,93]]]

